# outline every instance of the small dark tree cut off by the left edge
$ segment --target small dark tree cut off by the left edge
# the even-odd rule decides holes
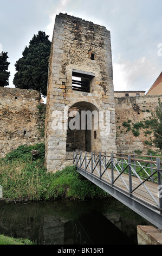
[[[0,86],[2,87],[9,85],[10,72],[7,70],[10,63],[7,62],[7,54],[8,52],[2,52],[2,56],[0,56]]]

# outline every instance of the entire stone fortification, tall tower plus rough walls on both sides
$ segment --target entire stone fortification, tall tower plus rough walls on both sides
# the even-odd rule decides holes
[[[88,92],[73,89],[73,74],[81,74],[82,81],[90,77]],[[73,149],[115,152],[117,147],[119,153],[134,150],[147,153],[148,149],[155,149],[148,120],[157,106],[158,96],[119,95],[114,100],[110,32],[74,16],[56,15],[45,123],[48,171],[55,172],[68,165],[68,151]],[[0,157],[19,145],[44,141],[41,134],[44,120],[38,106],[40,93],[0,87]],[[102,112],[105,130],[100,127],[98,130],[92,127],[90,132],[64,129],[69,121],[64,111],[73,107]],[[53,123],[58,112],[61,113],[62,129],[55,129],[57,124]],[[137,123],[141,127],[134,129]]]

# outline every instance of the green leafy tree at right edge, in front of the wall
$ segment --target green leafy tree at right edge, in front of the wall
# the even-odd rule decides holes
[[[158,106],[155,109],[155,112],[151,113],[150,125],[154,132],[154,143],[157,148],[160,149],[162,155],[162,102],[160,97],[158,99]]]

